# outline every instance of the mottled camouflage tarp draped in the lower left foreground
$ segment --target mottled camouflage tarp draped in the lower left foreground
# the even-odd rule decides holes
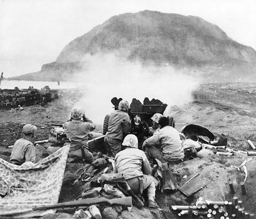
[[[0,215],[32,217],[33,207],[58,203],[70,145],[62,147],[30,168],[0,159]],[[23,212],[21,214],[21,212]]]

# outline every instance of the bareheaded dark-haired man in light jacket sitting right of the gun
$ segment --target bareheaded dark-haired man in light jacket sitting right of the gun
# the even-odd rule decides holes
[[[179,132],[169,126],[169,118],[165,116],[162,116],[158,123],[160,129],[142,144],[146,155],[170,164],[181,162],[184,159],[184,152]]]

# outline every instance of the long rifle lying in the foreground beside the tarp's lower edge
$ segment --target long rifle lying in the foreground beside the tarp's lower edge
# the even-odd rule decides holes
[[[45,210],[45,209],[55,209],[55,208],[63,208],[63,207],[80,207],[84,205],[95,205],[100,203],[108,203],[109,205],[125,205],[128,207],[132,207],[132,197],[122,197],[122,198],[114,198],[107,199],[105,197],[95,197],[95,198],[87,198],[75,201],[67,201],[52,205],[45,205],[42,207],[35,207],[33,211],[36,210]]]

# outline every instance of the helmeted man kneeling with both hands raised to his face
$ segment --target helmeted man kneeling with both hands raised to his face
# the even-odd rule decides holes
[[[70,150],[68,156],[69,161],[77,158],[84,160],[84,162],[92,163],[94,157],[88,148],[88,140],[90,135],[95,138],[102,134],[91,132],[95,129],[95,124],[86,118],[84,110],[81,107],[73,107],[71,110],[71,119],[63,124],[66,136],[71,140]],[[94,133],[96,136],[94,136]]]

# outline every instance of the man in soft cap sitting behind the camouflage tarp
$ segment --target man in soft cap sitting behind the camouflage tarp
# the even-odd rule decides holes
[[[24,162],[36,162],[36,148],[34,142],[32,142],[36,130],[36,126],[31,124],[23,126],[22,133],[24,136],[14,143],[10,156],[10,163],[20,166]]]

